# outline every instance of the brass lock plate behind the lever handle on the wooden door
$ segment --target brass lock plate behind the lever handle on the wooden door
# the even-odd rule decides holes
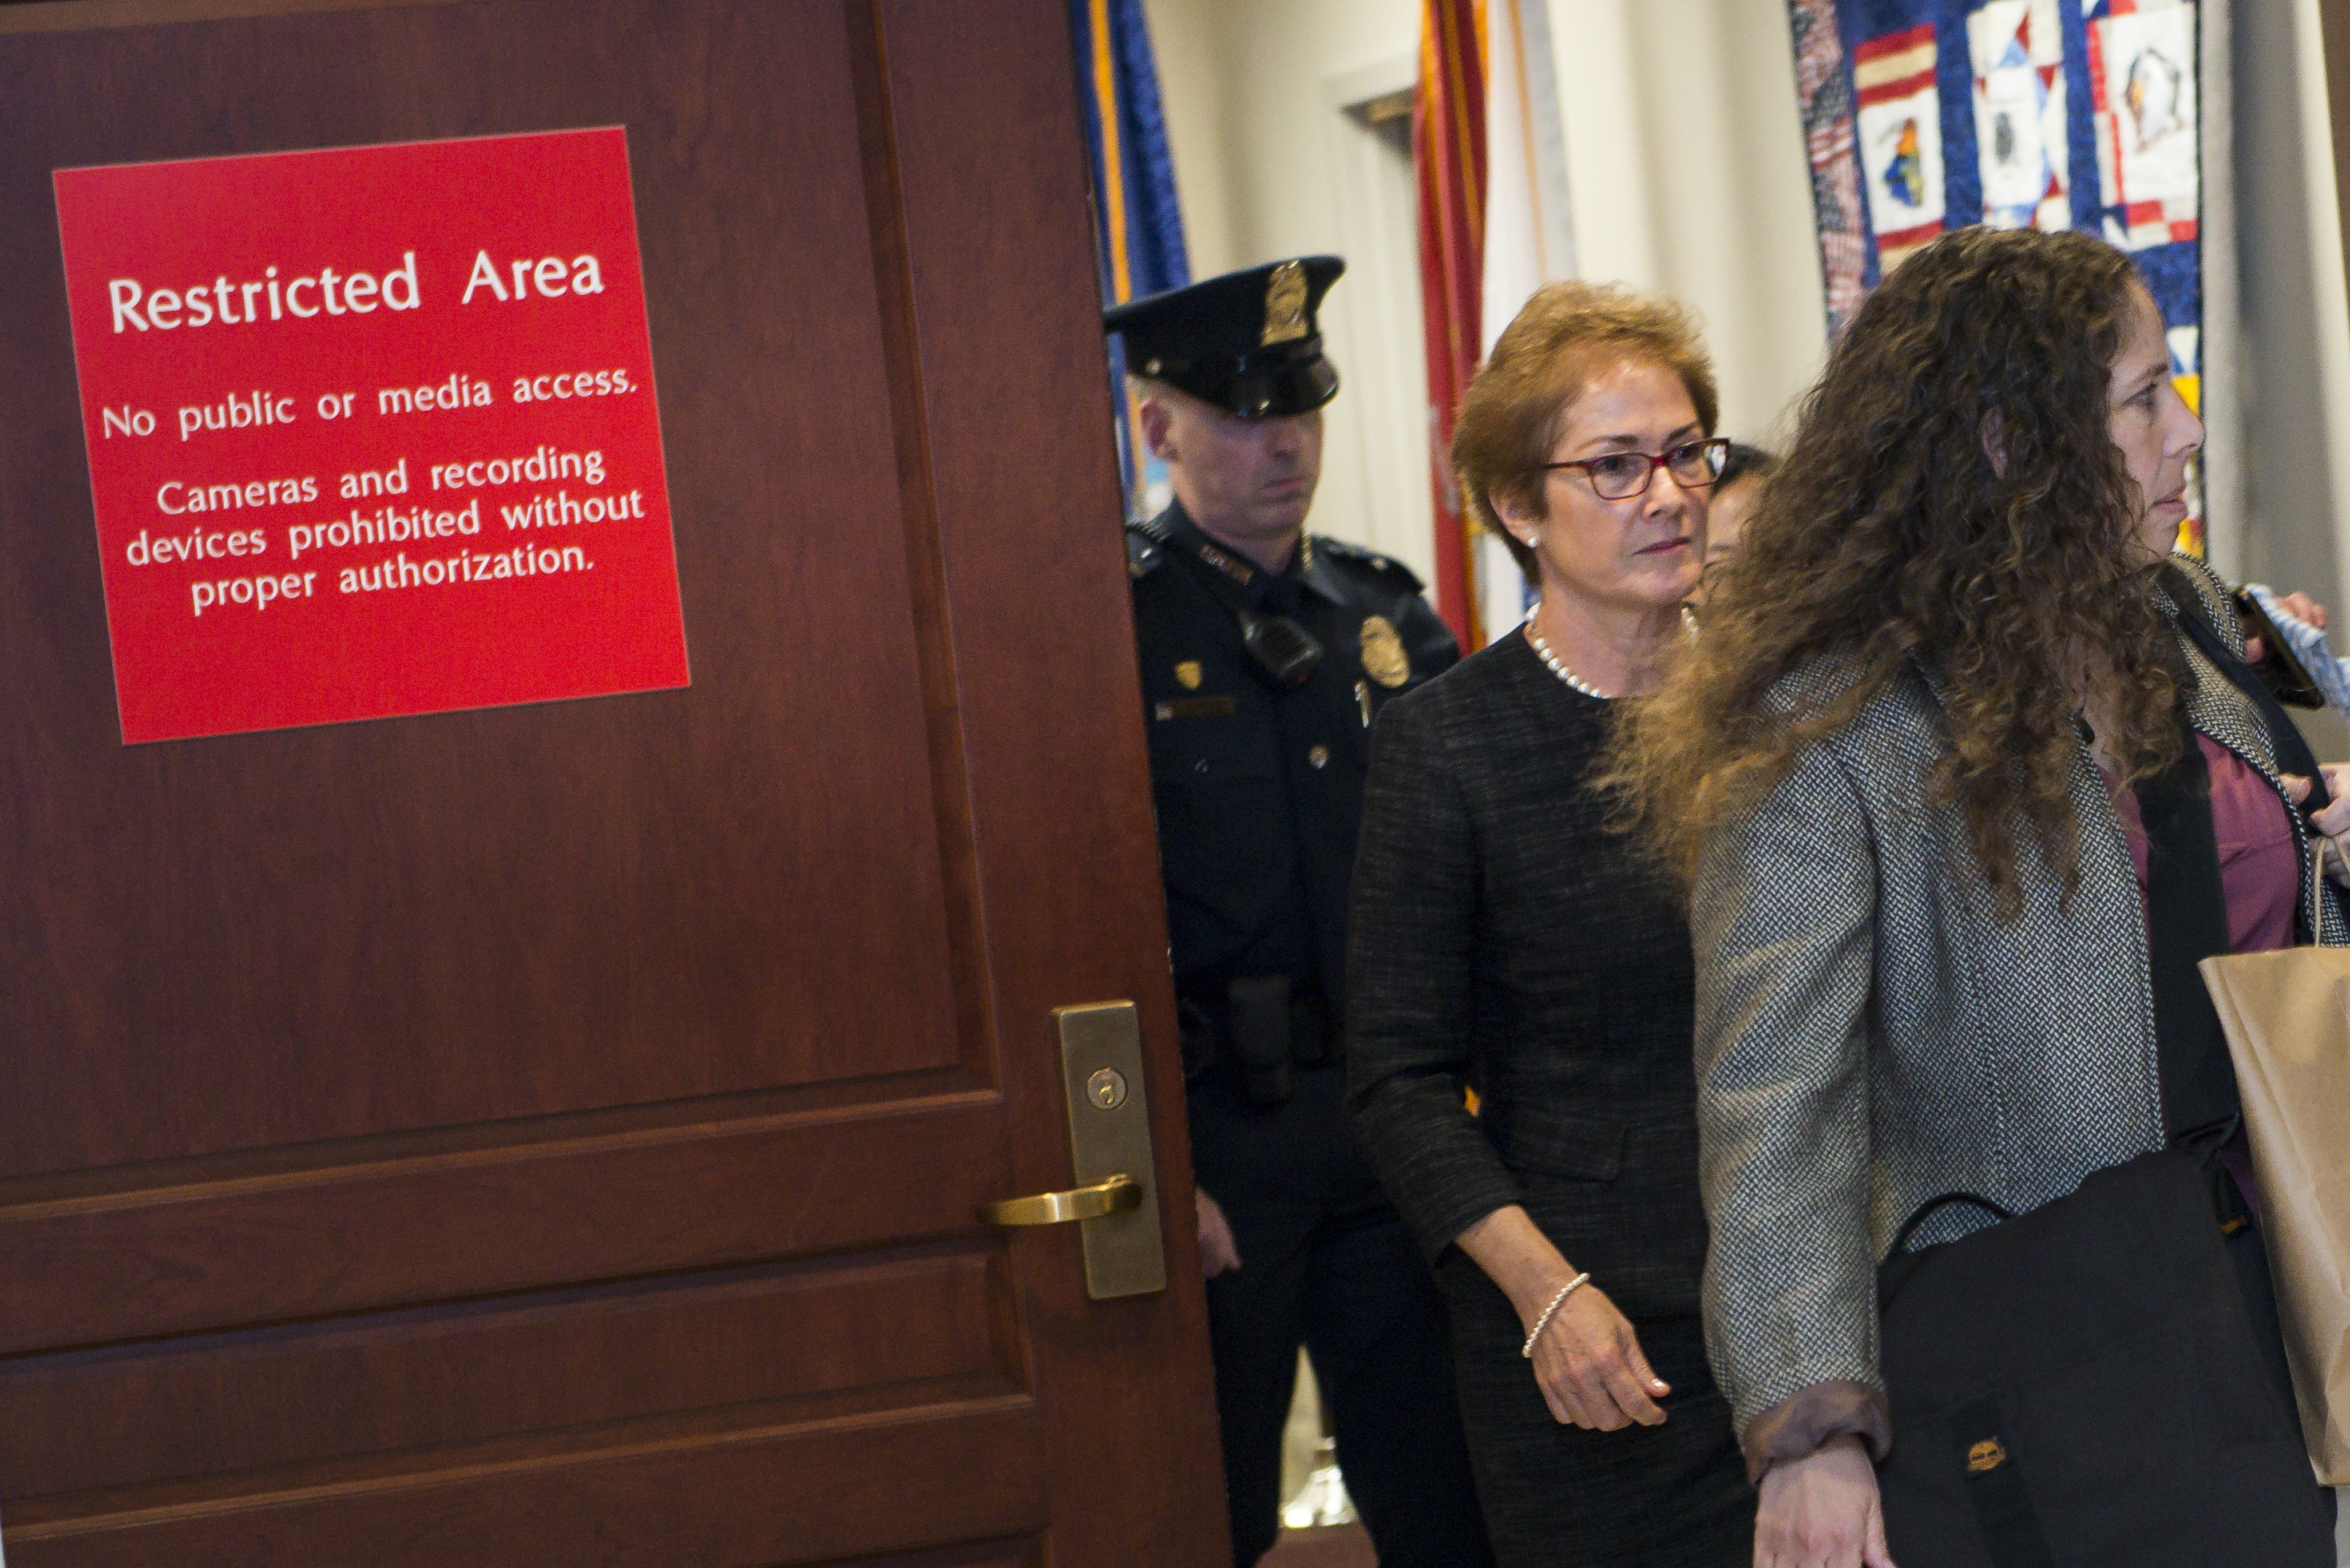
[[[1062,1103],[1069,1107],[1069,1157],[1076,1182],[1126,1173],[1142,1201],[1079,1222],[1086,1246],[1086,1295],[1116,1300],[1168,1288],[1159,1234],[1159,1161],[1152,1159],[1152,1103],[1142,1091],[1142,1018],[1133,1001],[1053,1009],[1060,1032]]]

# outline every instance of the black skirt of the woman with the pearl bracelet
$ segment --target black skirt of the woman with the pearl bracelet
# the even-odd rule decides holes
[[[1694,1314],[1636,1324],[1650,1366],[1673,1387],[1664,1425],[1586,1432],[1551,1418],[1499,1286],[1462,1253],[1441,1274],[1462,1425],[1502,1568],[1753,1563],[1755,1490]]]

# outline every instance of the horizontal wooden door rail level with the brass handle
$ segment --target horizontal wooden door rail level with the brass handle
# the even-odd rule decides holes
[[[0,1211],[0,1354],[975,1234],[1010,1185],[973,1095],[35,1204]]]

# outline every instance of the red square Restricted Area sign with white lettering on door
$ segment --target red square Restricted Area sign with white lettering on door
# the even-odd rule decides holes
[[[125,741],[686,684],[618,127],[56,172]]]

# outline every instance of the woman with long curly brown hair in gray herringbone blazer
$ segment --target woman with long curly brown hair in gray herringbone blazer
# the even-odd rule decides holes
[[[1758,1566],[1889,1563],[1875,1267],[1904,1220],[2223,1138],[2195,957],[2350,936],[2225,595],[2171,555],[2200,444],[2127,256],[1948,235],[1833,350],[1704,637],[1619,733],[1692,891],[1706,1335]],[[2202,954],[2150,957],[2150,802],[2218,860]],[[2275,1352],[2258,1229],[2230,1248]]]

